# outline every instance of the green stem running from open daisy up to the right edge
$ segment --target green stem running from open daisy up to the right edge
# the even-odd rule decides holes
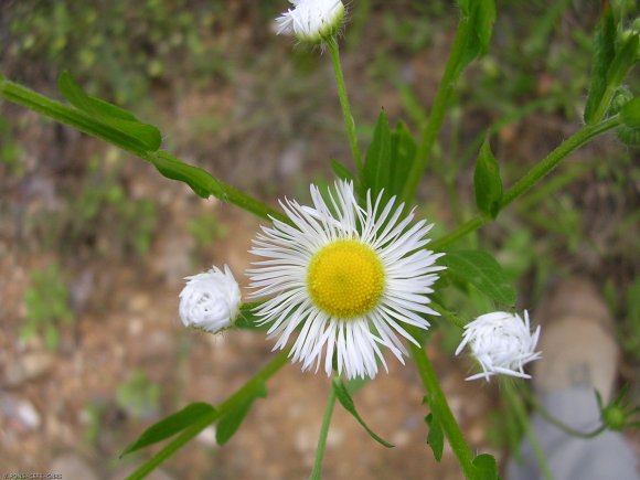
[[[618,127],[619,125],[620,118],[618,115],[616,115],[602,121],[601,124],[586,125],[580,128],[572,137],[565,140],[559,147],[552,151],[546,158],[544,158],[540,163],[526,172],[524,177],[522,177],[504,193],[504,196],[500,203],[500,210],[505,209],[515,199],[529,191],[532,186],[534,186],[537,182],[551,173],[562,160],[580,148],[583,145]],[[429,248],[434,250],[441,250],[460,237],[480,228],[482,225],[489,222],[491,222],[491,218],[477,215],[447,235],[430,243]]]

